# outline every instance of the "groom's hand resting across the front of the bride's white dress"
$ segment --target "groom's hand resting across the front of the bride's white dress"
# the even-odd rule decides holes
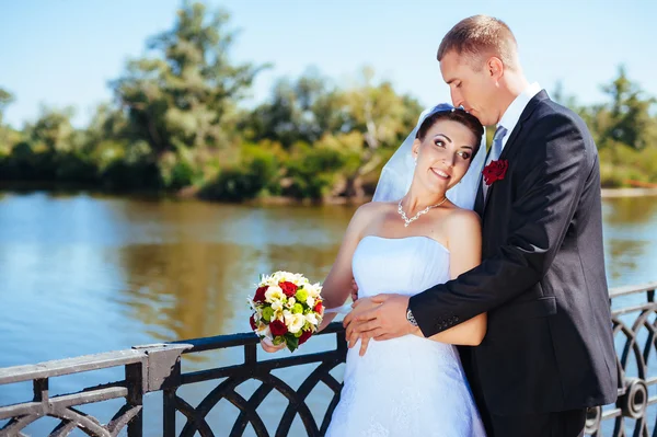
[[[359,299],[359,302],[362,300],[365,299]],[[367,310],[357,313],[353,311],[344,321],[347,325],[349,347],[353,347],[358,338],[361,341],[360,355],[365,354],[362,343],[366,340],[390,340],[418,331],[406,320],[408,296],[378,295],[367,300],[370,303]]]

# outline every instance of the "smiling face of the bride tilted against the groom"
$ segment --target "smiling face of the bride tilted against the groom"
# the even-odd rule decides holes
[[[413,156],[417,158],[414,177],[431,192],[447,192],[468,172],[476,139],[465,126],[439,119],[424,139],[415,139]]]

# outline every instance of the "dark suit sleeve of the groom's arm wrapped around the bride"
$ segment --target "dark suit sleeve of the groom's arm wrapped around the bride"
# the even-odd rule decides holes
[[[539,283],[564,241],[593,160],[583,127],[550,114],[532,129],[518,160],[509,232],[497,254],[446,284],[411,297],[425,336],[486,312]],[[590,162],[590,163],[589,163]],[[510,171],[510,169],[509,169]]]

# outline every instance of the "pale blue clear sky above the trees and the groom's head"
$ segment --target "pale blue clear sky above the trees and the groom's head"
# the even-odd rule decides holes
[[[379,78],[424,105],[449,100],[436,49],[459,20],[476,13],[506,21],[527,77],[551,91],[557,80],[583,103],[604,99],[600,84],[624,64],[657,96],[657,2],[629,0],[223,0],[207,1],[240,31],[235,61],[273,62],[246,105],[269,94],[275,79],[315,67],[338,84],[371,66]],[[5,119],[34,120],[42,104],[77,110],[88,123],[112,99],[107,82],[145,53],[150,35],[172,26],[177,0],[0,0],[0,87],[16,101]]]

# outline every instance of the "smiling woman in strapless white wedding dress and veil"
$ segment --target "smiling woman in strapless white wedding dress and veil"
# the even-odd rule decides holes
[[[451,105],[423,113],[383,169],[374,202],[351,218],[323,284],[325,308],[345,303],[351,278],[360,297],[414,295],[480,264],[481,223],[471,209],[483,131]],[[334,315],[326,313],[321,327]],[[367,355],[350,348],[326,436],[485,436],[454,346],[479,345],[485,333],[480,314],[430,338],[372,340]]]

